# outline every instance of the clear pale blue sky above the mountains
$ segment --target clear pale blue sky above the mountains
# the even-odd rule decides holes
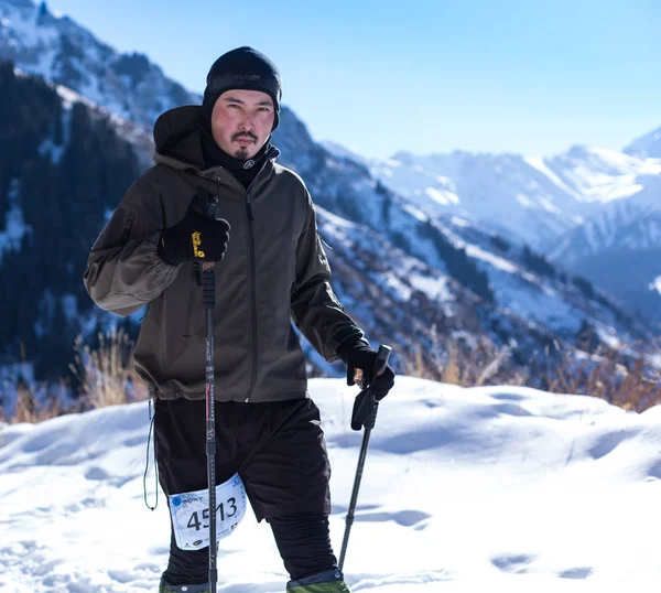
[[[316,140],[365,155],[621,149],[661,126],[658,0],[51,0],[202,91],[216,57],[269,55]]]

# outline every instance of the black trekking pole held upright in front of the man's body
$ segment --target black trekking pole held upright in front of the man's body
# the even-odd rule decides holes
[[[216,268],[214,263],[202,265],[202,300],[206,317],[206,453],[209,486],[209,591],[216,593],[216,401],[214,373],[214,308],[216,306]]]

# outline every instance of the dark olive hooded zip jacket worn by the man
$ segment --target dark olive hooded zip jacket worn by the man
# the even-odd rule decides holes
[[[219,200],[230,224],[216,266],[215,389],[220,401],[307,396],[296,333],[328,362],[362,332],[329,284],[330,270],[303,181],[275,164],[278,149],[246,191],[220,166],[204,169],[198,107],[163,114],[155,165],[127,191],[96,240],[84,274],[91,299],[126,316],[145,304],[134,363],[153,397],[205,397],[205,311],[197,266],[164,262],[161,233],[184,216],[198,188]]]

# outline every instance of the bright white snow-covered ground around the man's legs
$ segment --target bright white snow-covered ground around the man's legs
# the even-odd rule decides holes
[[[339,552],[361,434],[356,388],[315,379]],[[170,541],[143,504],[145,402],[0,430],[0,591],[155,591]],[[153,465],[148,476],[153,502]],[[354,592],[658,591],[661,407],[398,378],[372,433],[345,563]],[[220,542],[223,593],[286,574],[251,511]]]

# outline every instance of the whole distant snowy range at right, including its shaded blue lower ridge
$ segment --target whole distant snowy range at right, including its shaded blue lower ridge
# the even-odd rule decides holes
[[[652,158],[658,139],[659,132],[652,132],[647,143],[638,143],[639,151],[576,145],[546,159],[402,152],[368,160],[338,144],[325,145],[339,159],[359,160],[425,215],[453,213],[531,245],[661,319],[653,289],[661,273],[661,159]]]

